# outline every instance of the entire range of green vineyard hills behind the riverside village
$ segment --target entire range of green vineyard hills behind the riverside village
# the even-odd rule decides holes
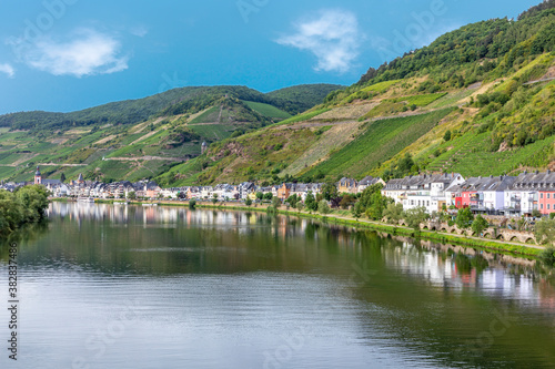
[[[0,177],[30,178],[38,163],[53,177],[164,186],[555,170],[555,0],[448,32],[340,90],[186,88],[114,104],[0,117]]]

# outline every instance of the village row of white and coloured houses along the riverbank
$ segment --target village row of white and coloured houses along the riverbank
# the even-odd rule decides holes
[[[309,194],[322,193],[323,183],[283,183],[258,186],[252,182],[238,185],[185,186],[162,188],[155,182],[131,183],[120,181],[102,183],[84,181],[80,174],[74,181],[42,178],[37,167],[34,181],[29,183],[2,183],[1,188],[14,191],[19,186],[39,184],[46,186],[52,197],[98,199],[174,199],[256,202],[279,198],[285,203],[290,196],[304,202]],[[384,182],[366,176],[357,182],[342,178],[335,185],[337,194],[359,195],[372,185],[381,184],[382,195],[402,204],[403,209],[424,207],[433,214],[443,209],[470,208],[473,213],[503,216],[547,216],[555,213],[555,173],[547,171],[523,172],[518,176],[484,176],[464,178],[457,173],[422,174]],[[262,196],[261,196],[262,195]]]

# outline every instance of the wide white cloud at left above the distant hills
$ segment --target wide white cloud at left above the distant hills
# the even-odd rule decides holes
[[[53,75],[110,74],[128,69],[128,57],[120,55],[121,44],[113,37],[80,29],[70,41],[39,39],[22,55],[31,68]]]

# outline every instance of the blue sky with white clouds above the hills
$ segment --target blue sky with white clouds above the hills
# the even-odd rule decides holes
[[[0,0],[0,114],[185,85],[352,84],[442,33],[539,0]]]

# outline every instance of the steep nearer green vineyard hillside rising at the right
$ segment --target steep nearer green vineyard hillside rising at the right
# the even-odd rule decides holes
[[[369,69],[307,112],[213,144],[164,185],[517,174],[555,165],[555,1]]]

